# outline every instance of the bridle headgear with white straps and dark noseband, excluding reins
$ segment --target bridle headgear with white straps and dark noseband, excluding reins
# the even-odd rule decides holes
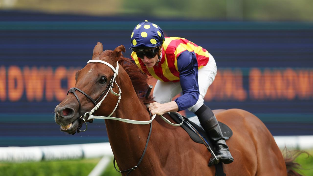
[[[121,89],[120,89],[120,86],[116,83],[116,80],[115,80],[115,78],[116,78],[116,76],[117,76],[117,74],[118,74],[118,69],[119,69],[119,64],[118,64],[118,62],[117,62],[117,64],[116,64],[116,68],[114,68],[111,64],[109,64],[109,63],[107,63],[107,62],[105,62],[105,61],[102,61],[102,60],[89,60],[89,61],[87,62],[87,64],[88,64],[88,63],[91,63],[91,62],[100,62],[100,63],[102,63],[102,64],[105,64],[105,65],[109,66],[109,67],[114,71],[114,75],[112,76],[112,78],[111,78],[111,80],[110,80],[108,86],[105,88],[105,91],[103,91],[103,93],[102,93],[96,100],[94,100],[93,98],[91,98],[88,94],[86,94],[84,91],[80,90],[80,89],[77,88],[77,87],[72,87],[72,88],[70,88],[69,91],[67,92],[67,95],[69,95],[70,92],[73,93],[74,96],[76,97],[77,101],[78,101],[78,104],[79,104],[79,114],[80,114],[80,118],[79,118],[79,121],[80,121],[80,122],[79,122],[79,123],[80,123],[80,124],[79,124],[79,127],[77,128],[77,133],[79,133],[79,132],[84,132],[84,131],[87,130],[87,123],[86,123],[86,122],[90,122],[90,123],[93,122],[94,119],[93,119],[93,118],[90,118],[91,114],[93,114],[93,113],[100,107],[102,101],[105,99],[105,97],[108,95],[109,92],[111,92],[111,93],[112,93],[113,95],[115,95],[115,96],[119,96],[119,97],[118,97],[119,100],[117,101],[114,110],[112,111],[112,113],[111,113],[108,117],[110,117],[110,116],[114,113],[114,111],[116,110],[116,108],[117,108],[117,106],[118,106],[118,104],[119,104],[119,102],[120,102],[120,100],[121,100],[121,95],[122,95],[122,91],[121,91]],[[113,86],[114,83],[117,85],[117,87],[118,87],[118,89],[119,89],[119,93],[115,93],[115,92],[112,90],[112,88],[114,88],[114,86]],[[94,103],[94,105],[95,105],[95,107],[92,108],[91,111],[86,112],[86,113],[84,114],[84,116],[82,116],[82,113],[81,113],[80,99],[79,99],[79,97],[77,96],[77,94],[75,93],[75,91],[79,91],[79,92],[81,92],[82,94],[84,94],[84,95],[85,95],[87,98],[89,98],[89,99]],[[105,94],[105,92],[106,92],[106,94]],[[100,100],[100,98],[101,98],[104,94],[105,94],[105,96]],[[99,100],[100,100],[100,101],[99,101]],[[99,101],[99,102],[98,102],[98,101]],[[87,116],[87,114],[88,114],[88,116]],[[86,119],[86,117],[87,117],[87,119]],[[83,122],[83,121],[84,121],[85,124],[86,124],[86,129],[83,130],[83,131],[81,131],[80,128],[82,127],[82,122]]]

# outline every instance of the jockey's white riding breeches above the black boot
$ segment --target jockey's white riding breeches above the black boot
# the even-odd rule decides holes
[[[203,105],[203,98],[208,91],[209,86],[213,83],[216,76],[216,63],[210,54],[209,62],[198,70],[199,99],[197,103],[188,108],[189,111],[195,112]],[[180,81],[178,82],[162,82],[157,80],[154,87],[154,100],[159,103],[167,103],[172,101],[173,97],[182,92]]]

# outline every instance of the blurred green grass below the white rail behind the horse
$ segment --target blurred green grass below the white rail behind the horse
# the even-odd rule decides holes
[[[303,169],[299,173],[305,176],[313,175],[313,149],[307,150],[310,154],[302,153],[296,162]],[[80,159],[66,161],[43,161],[27,163],[0,163],[0,176],[86,176],[96,166],[101,158]],[[113,167],[113,158],[102,176],[121,176]]]

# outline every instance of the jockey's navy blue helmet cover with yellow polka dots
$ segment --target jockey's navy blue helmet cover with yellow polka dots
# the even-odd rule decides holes
[[[155,48],[161,46],[164,40],[162,29],[156,24],[145,20],[145,22],[137,24],[131,33],[131,49],[144,51],[147,49],[146,47]]]

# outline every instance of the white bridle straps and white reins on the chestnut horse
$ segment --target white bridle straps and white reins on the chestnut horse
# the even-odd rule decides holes
[[[111,117],[111,115],[115,112],[115,110],[116,110],[118,104],[120,103],[120,101],[121,101],[121,96],[122,96],[122,91],[121,91],[121,89],[120,89],[120,86],[116,83],[116,79],[115,79],[116,76],[117,76],[117,74],[118,74],[119,64],[118,64],[118,62],[116,63],[116,68],[114,68],[111,64],[109,64],[109,63],[107,63],[107,62],[105,62],[105,61],[103,61],[103,60],[89,60],[89,61],[87,62],[87,64],[88,64],[88,63],[91,63],[91,62],[99,62],[99,63],[102,63],[102,64],[105,64],[105,65],[109,66],[109,67],[113,70],[114,75],[113,75],[113,79],[111,79],[111,81],[110,81],[110,83],[109,83],[109,84],[111,84],[111,85],[110,85],[109,90],[108,90],[107,93],[105,94],[105,96],[101,99],[101,101],[99,101],[98,104],[95,105],[94,108],[92,108],[91,111],[86,112],[86,113],[84,114],[83,120],[86,120],[86,121],[87,121],[87,120],[90,120],[90,119],[108,119],[108,120],[118,120],[118,121],[122,121],[122,122],[126,122],[126,123],[132,123],[132,124],[140,124],[140,125],[149,124],[149,123],[151,123],[151,122],[154,120],[154,118],[156,117],[156,115],[153,115],[153,116],[152,116],[152,119],[149,120],[149,121],[137,121],[137,120],[130,120],[130,119],[122,119],[122,118],[117,118],[117,117]],[[112,90],[112,87],[113,87],[113,84],[114,84],[114,83],[115,83],[115,85],[117,85],[117,87],[118,87],[118,89],[119,89],[119,93],[115,93],[115,92]],[[111,93],[112,93],[113,95],[115,95],[115,96],[119,96],[119,97],[118,97],[119,100],[117,101],[116,106],[115,106],[114,110],[112,111],[112,113],[111,113],[109,116],[94,116],[94,115],[92,115],[92,114],[100,107],[102,101],[105,99],[105,97],[108,95],[109,92],[111,92]],[[172,123],[172,122],[170,122],[169,120],[167,120],[167,119],[166,119],[164,116],[162,116],[162,115],[161,115],[161,118],[162,118],[165,122],[167,122],[168,124],[170,124],[170,125],[172,125],[172,126],[180,126],[180,125],[182,125],[182,123],[183,123],[183,118],[182,118],[182,116],[181,116],[178,112],[173,112],[173,113],[177,113],[177,114],[179,115],[179,117],[180,117],[181,120],[182,120],[181,123],[179,123],[179,124]],[[86,117],[87,114],[89,115],[89,116],[88,116],[88,119],[85,119],[85,117]],[[86,125],[87,125],[87,124],[86,124]]]

